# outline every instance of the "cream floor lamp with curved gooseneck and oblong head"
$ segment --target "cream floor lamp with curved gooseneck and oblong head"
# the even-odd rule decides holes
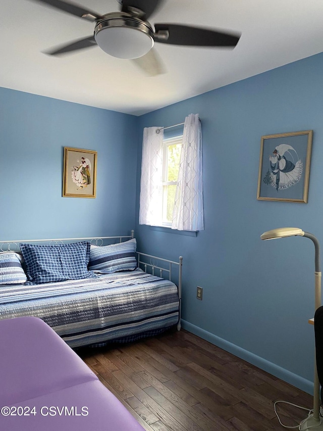
[[[320,270],[320,259],[319,259],[319,244],[317,238],[309,232],[304,232],[298,227],[281,227],[279,229],[269,230],[264,232],[260,238],[261,240],[275,240],[276,238],[284,238],[285,236],[305,236],[314,243],[315,247],[315,310],[321,305],[321,270]],[[314,311],[315,311],[314,310]],[[301,430],[317,430],[323,431],[323,422],[319,417],[319,381],[316,369],[316,359],[314,355],[314,403],[313,403],[313,414],[302,423],[299,429]]]

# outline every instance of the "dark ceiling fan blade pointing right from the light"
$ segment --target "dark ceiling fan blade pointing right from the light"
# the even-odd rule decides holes
[[[155,42],[190,46],[235,46],[240,34],[180,24],[154,24]]]

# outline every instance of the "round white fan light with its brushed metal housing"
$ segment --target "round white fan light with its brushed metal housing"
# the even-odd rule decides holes
[[[94,38],[101,50],[113,57],[139,58],[154,43],[153,30],[148,24],[123,14],[107,14],[96,24]]]

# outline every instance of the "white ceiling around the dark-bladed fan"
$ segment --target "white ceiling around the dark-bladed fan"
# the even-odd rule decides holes
[[[117,0],[79,0],[98,14]],[[94,24],[30,0],[0,0],[0,86],[141,115],[323,51],[322,0],[165,0],[149,18],[238,31],[232,49],[155,43],[167,73],[145,76],[95,46],[42,51],[93,34]],[[323,73],[323,71],[322,71]]]

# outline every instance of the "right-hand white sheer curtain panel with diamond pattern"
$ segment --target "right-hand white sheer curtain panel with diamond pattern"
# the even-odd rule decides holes
[[[198,114],[185,118],[172,229],[203,230],[202,129]]]

